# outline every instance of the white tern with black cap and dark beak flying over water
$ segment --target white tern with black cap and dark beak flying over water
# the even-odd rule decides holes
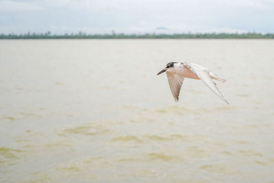
[[[206,67],[191,62],[169,62],[157,75],[164,72],[166,72],[167,79],[169,80],[169,87],[171,88],[171,93],[175,101],[179,101],[179,92],[184,82],[184,78],[187,77],[201,80],[208,88],[216,93],[216,95],[223,99],[225,103],[229,104],[217,88],[216,83],[212,80],[225,82],[225,79],[218,77],[218,75],[212,73],[212,71],[209,71]]]

